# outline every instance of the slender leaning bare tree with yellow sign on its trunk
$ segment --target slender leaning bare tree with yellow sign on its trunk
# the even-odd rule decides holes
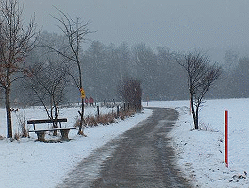
[[[57,9],[58,10],[58,9]],[[50,49],[56,51],[58,54],[62,55],[69,62],[72,62],[78,69],[78,74],[75,72],[68,72],[72,77],[75,85],[81,93],[81,111],[80,114],[80,126],[78,134],[84,135],[82,130],[82,125],[84,122],[84,90],[83,90],[83,81],[82,81],[82,67],[80,61],[81,45],[86,40],[86,35],[91,33],[88,29],[89,23],[80,22],[79,18],[76,20],[72,19],[69,15],[58,10],[59,16],[54,17],[60,25],[58,26],[63,34],[65,35],[68,46],[64,49],[56,49],[49,47]],[[73,66],[73,67],[75,67]]]

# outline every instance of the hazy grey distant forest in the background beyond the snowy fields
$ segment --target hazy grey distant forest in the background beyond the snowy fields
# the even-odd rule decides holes
[[[58,54],[44,48],[47,44],[62,49],[62,36],[42,32],[39,45],[28,55],[26,66],[37,64],[60,66],[63,60]],[[92,41],[88,49],[82,49],[83,86],[86,96],[96,102],[120,101],[118,86],[125,78],[141,81],[143,100],[184,100],[189,98],[186,73],[175,61],[179,52],[167,47],[152,49],[144,43],[129,47],[125,42],[119,46],[104,45]],[[211,87],[207,98],[249,97],[249,58],[239,57],[236,52],[228,51],[223,57],[225,66],[223,75]],[[228,67],[228,68],[227,68]],[[77,73],[77,71],[75,70]],[[25,79],[25,78],[24,78]],[[34,93],[25,85],[24,79],[13,84],[11,98],[19,105],[36,105]],[[80,101],[80,92],[68,79],[63,91],[63,103]],[[2,100],[2,104],[4,100]]]

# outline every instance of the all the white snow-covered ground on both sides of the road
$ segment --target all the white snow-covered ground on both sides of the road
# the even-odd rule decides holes
[[[147,104],[144,103],[146,107]],[[171,107],[180,116],[170,132],[176,150],[176,163],[197,187],[249,187],[249,99],[208,100],[200,112],[200,127],[193,130],[189,101],[149,102],[149,107]],[[77,108],[64,108],[60,117],[73,126]],[[110,109],[109,109],[110,110]],[[102,113],[109,111],[102,109]],[[229,113],[229,166],[224,164],[224,110]],[[6,135],[5,112],[0,109],[0,135]],[[86,113],[95,114],[88,108]],[[83,158],[152,114],[151,110],[118,123],[85,129],[88,137],[71,130],[70,142],[41,143],[31,138],[0,141],[0,187],[54,187]],[[46,118],[39,108],[13,112],[18,118]],[[14,133],[18,131],[17,126]]]

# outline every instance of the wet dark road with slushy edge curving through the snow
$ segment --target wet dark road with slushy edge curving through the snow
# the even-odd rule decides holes
[[[168,132],[178,112],[154,108],[153,115],[84,159],[58,187],[191,187],[174,165]]]

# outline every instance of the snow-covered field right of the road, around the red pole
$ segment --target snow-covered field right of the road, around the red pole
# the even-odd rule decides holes
[[[200,128],[193,130],[189,101],[150,102],[172,107],[180,117],[171,131],[177,164],[196,187],[249,187],[249,99],[207,100]],[[228,110],[228,168],[224,156],[224,111]]]

